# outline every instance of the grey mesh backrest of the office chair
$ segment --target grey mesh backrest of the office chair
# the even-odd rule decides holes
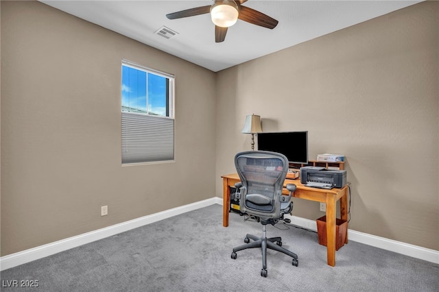
[[[241,179],[241,212],[261,218],[281,216],[283,183],[288,160],[270,151],[245,151],[235,156],[235,167]]]

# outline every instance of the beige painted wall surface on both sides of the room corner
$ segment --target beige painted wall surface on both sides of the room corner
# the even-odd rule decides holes
[[[310,158],[346,155],[351,229],[439,250],[438,6],[215,74],[42,3],[1,1],[1,256],[222,197],[251,113],[265,131],[308,130]],[[176,162],[121,167],[122,58],[176,75]],[[322,213],[296,200],[294,215]]]

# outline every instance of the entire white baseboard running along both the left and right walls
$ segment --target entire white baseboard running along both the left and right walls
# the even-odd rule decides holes
[[[62,239],[54,243],[48,243],[46,245],[41,245],[38,247],[31,248],[29,250],[24,250],[23,252],[16,252],[15,254],[10,254],[8,256],[2,256],[0,258],[0,271],[5,269],[10,269],[18,265],[23,265],[24,263],[29,263],[32,260],[38,260],[39,258],[44,258],[52,254],[57,254],[58,252],[63,252],[65,250],[70,250],[73,247],[78,247],[86,243],[91,243],[99,239],[104,239],[108,236],[119,234],[134,228],[138,228],[156,221],[167,219],[176,215],[180,215],[191,210],[196,210],[199,208],[204,208],[206,206],[211,206],[213,204],[222,205],[222,198],[213,197],[211,199],[205,199],[200,202],[195,202],[193,204],[187,204],[185,206],[180,206],[177,208],[172,208],[165,210],[163,212],[158,212],[152,215],[147,215],[145,217],[133,219],[123,223],[115,224],[113,226],[108,226],[99,230],[94,230],[78,236],[73,236],[68,239]],[[296,217],[288,216],[292,223],[296,226],[302,228],[307,228],[309,230],[317,231],[316,221]],[[367,245],[372,245],[375,247],[382,248],[383,250],[389,250],[399,254],[405,254],[407,256],[412,256],[414,258],[420,258],[421,260],[427,260],[431,263],[439,264],[439,252],[436,250],[429,250],[424,247],[418,247],[416,245],[410,245],[407,243],[401,243],[399,241],[392,241],[390,239],[385,239],[383,237],[374,236],[366,234],[363,232],[358,232],[355,230],[348,230],[348,238],[350,241],[357,241],[359,243],[364,243]]]

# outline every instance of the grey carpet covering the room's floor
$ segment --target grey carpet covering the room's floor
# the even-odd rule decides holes
[[[269,250],[263,278],[259,250],[230,258],[246,233],[260,236],[261,224],[231,213],[224,228],[213,205],[2,271],[1,291],[439,291],[439,265],[351,241],[329,267],[315,232],[283,224],[267,235],[282,236],[299,265]]]

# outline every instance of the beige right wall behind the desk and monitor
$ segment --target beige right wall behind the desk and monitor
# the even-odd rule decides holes
[[[308,130],[310,159],[346,156],[349,228],[439,250],[438,10],[419,3],[219,72],[217,178],[259,114],[266,132]],[[295,199],[293,215],[322,212]]]

